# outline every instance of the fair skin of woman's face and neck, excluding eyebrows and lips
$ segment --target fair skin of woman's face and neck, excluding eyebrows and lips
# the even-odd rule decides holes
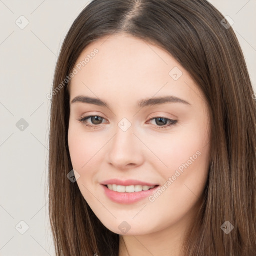
[[[71,80],[70,102],[78,95],[100,98],[109,108],[70,103],[68,145],[79,189],[99,220],[120,235],[119,255],[180,256],[181,242],[201,203],[209,168],[210,119],[206,100],[189,73],[164,49],[127,34],[102,37],[89,44],[76,61],[95,48],[98,53]],[[169,72],[178,67],[174,80]],[[77,69],[77,68],[76,68]],[[137,107],[145,98],[173,95],[190,103]],[[95,115],[103,119],[78,121]],[[177,120],[166,129],[157,118]],[[118,123],[126,118],[127,131]],[[163,126],[168,122],[163,120]],[[182,163],[192,161],[153,202],[111,201],[100,183],[110,178],[165,184]],[[118,226],[126,221],[127,233]]]

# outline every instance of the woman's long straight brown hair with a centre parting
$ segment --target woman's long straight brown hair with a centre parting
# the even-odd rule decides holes
[[[50,95],[49,214],[57,256],[118,255],[119,235],[99,221],[67,178],[67,77],[89,43],[118,32],[167,50],[190,73],[210,109],[208,180],[184,255],[255,256],[256,101],[238,40],[223,19],[206,0],[93,0],[75,19]],[[234,226],[228,234],[221,229],[225,221]]]

